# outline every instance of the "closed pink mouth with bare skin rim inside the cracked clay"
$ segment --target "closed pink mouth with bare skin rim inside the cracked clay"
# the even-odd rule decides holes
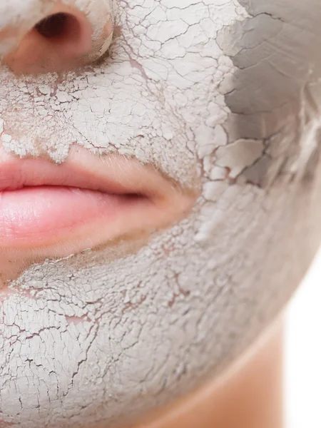
[[[65,257],[183,218],[195,193],[151,165],[74,146],[57,165],[0,151],[0,248]]]

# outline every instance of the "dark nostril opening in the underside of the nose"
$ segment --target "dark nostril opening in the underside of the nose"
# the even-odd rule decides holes
[[[77,21],[74,16],[60,13],[46,16],[35,25],[35,29],[46,39],[61,39],[68,35],[68,26],[75,27],[75,24]]]

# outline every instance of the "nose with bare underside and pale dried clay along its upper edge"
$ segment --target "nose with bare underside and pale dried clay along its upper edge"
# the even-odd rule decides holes
[[[101,56],[112,39],[111,9],[106,0],[84,3],[86,10],[76,0],[58,2],[46,14],[41,6],[35,14],[34,3],[30,14],[24,7],[20,20],[0,29],[1,46],[9,46],[3,63],[16,74],[37,74],[69,71]]]

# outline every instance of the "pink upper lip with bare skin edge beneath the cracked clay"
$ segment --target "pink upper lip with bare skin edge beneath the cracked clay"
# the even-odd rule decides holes
[[[141,195],[151,200],[168,198],[178,190],[153,166],[141,165],[125,156],[98,157],[85,149],[73,148],[65,162],[56,164],[41,158],[19,159],[0,152],[0,191],[41,185]]]

